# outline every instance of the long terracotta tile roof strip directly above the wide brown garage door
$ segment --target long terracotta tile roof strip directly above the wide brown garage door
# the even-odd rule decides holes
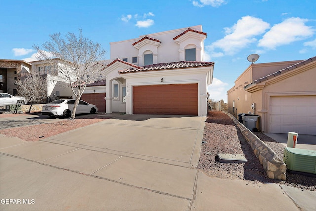
[[[205,67],[214,66],[214,62],[198,62],[198,61],[180,61],[180,62],[168,62],[147,65],[140,68],[129,68],[125,70],[118,71],[119,74],[124,73],[135,73],[135,72],[146,72],[146,71],[159,71],[159,70],[171,70],[171,69],[181,69],[181,68],[195,68],[195,67]]]

